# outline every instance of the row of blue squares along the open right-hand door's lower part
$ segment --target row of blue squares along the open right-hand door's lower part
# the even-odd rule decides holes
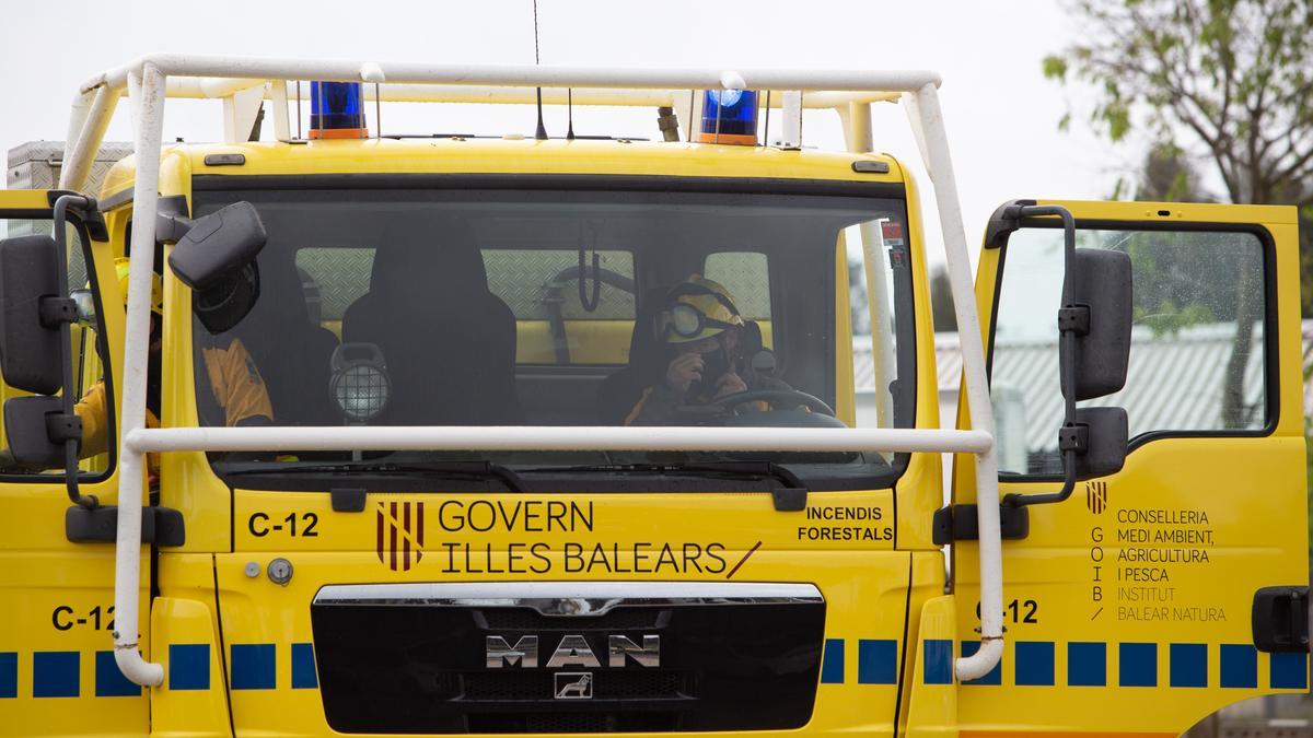
[[[979,649],[978,641],[958,643],[961,655]],[[1066,649],[1066,674],[1056,670],[1056,654]],[[1116,674],[1109,674],[1109,653],[1116,653]],[[923,682],[953,683],[953,641],[926,640],[922,647]],[[1166,659],[1166,680],[1159,679],[1159,663]],[[1222,687],[1257,689],[1308,689],[1308,654],[1268,654],[1266,679],[1259,679],[1258,650],[1251,643],[1144,643],[1102,641],[1012,641],[1010,654],[985,676],[966,682],[1003,684],[1003,672],[1018,687]],[[1217,663],[1209,683],[1209,662]]]

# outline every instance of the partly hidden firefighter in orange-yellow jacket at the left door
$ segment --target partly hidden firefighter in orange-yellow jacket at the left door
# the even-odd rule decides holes
[[[127,301],[127,259],[114,261],[118,290]],[[163,345],[164,288],[159,274],[151,274],[151,334],[150,360],[146,378],[146,427],[158,428],[160,415],[160,348]],[[270,425],[273,407],[260,370],[240,339],[232,337],[201,349],[210,390],[225,415],[226,425]],[[89,458],[109,449],[109,407],[112,398],[105,391],[105,380],[92,385],[77,403],[74,412],[83,422],[83,439],[79,457]],[[0,449],[0,469],[14,469],[13,453]],[[151,477],[156,475],[158,462],[150,454]]]

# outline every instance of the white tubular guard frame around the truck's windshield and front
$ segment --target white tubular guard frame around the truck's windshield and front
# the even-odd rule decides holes
[[[253,80],[253,81],[243,81]],[[850,104],[893,100],[899,93],[930,169],[944,253],[957,314],[962,372],[970,402],[970,431],[943,429],[807,429],[807,428],[144,428],[146,373],[150,320],[150,280],[154,271],[152,228],[133,231],[133,261],[129,272],[127,332],[123,347],[122,441],[119,448],[118,538],[114,571],[114,658],[137,684],[159,685],[160,664],[142,659],[137,643],[140,571],[140,520],[144,453],[150,450],[270,450],[270,449],[576,449],[576,450],[886,450],[972,453],[976,458],[976,488],[979,524],[981,647],[956,662],[960,680],[977,679],[998,663],[1003,650],[1002,546],[998,523],[998,469],[994,456],[994,415],[985,376],[979,319],[972,290],[970,260],[962,227],[957,185],[948,135],[936,88],[940,77],[928,71],[797,71],[797,70],[693,70],[693,68],[586,68],[537,66],[416,64],[340,60],[251,59],[155,54],[125,67],[96,75],[83,83],[74,101],[68,151],[60,186],[80,189],[91,160],[101,144],[117,98],[127,88],[137,122],[135,214],[139,223],[155,222],[160,165],[160,135],[164,101],[177,97],[231,96],[263,81],[339,80],[389,83],[389,85],[470,87],[471,100],[520,101],[529,88],[583,88],[584,100],[600,91],[647,91],[642,95],[613,93],[620,100],[642,97],[642,104],[666,100],[670,91],[720,88],[734,80],[746,89],[805,92],[802,105],[847,109]],[[171,87],[172,85],[172,87]],[[488,93],[474,87],[512,88]],[[366,85],[368,89],[369,85]],[[519,88],[519,89],[516,89]],[[425,98],[411,87],[390,87],[398,97]],[[592,91],[592,92],[586,92]],[[658,92],[653,92],[658,91]],[[662,93],[659,91],[666,91]],[[439,89],[460,96],[456,89]],[[655,97],[653,97],[655,95]],[[646,97],[645,97],[646,96]],[[286,97],[274,91],[274,97]],[[784,96],[779,96],[783,98]],[[671,97],[674,100],[674,97]],[[498,100],[502,101],[502,100]],[[634,102],[638,104],[638,102]],[[76,135],[74,131],[76,130]]]

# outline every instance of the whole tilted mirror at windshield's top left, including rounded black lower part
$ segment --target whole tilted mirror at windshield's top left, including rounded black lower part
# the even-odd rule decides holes
[[[255,307],[255,259],[267,238],[255,206],[234,202],[193,222],[169,253],[169,268],[192,288],[193,311],[211,334],[231,330]]]

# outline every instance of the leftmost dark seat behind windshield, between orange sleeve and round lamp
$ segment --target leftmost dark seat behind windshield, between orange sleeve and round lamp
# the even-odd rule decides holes
[[[260,260],[260,298],[230,336],[242,339],[255,360],[276,425],[340,425],[328,390],[337,336],[311,322],[293,253],[269,251]]]

